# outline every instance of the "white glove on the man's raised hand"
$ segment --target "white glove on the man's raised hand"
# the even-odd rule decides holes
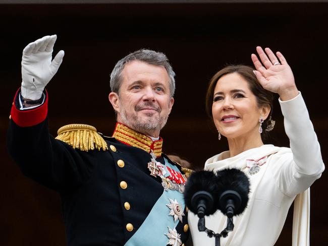
[[[29,43],[23,50],[22,56],[22,88],[25,99],[38,100],[44,87],[61,66],[64,50],[52,58],[52,49],[57,35],[44,36]]]

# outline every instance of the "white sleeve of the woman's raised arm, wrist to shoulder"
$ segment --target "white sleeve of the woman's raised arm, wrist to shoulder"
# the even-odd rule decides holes
[[[279,102],[291,151],[283,148],[285,151],[278,153],[275,163],[280,168],[276,169],[275,176],[280,190],[285,195],[294,197],[308,189],[321,176],[324,164],[301,93],[289,101],[279,99]]]

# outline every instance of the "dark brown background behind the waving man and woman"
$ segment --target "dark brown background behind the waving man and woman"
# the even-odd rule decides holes
[[[256,45],[280,50],[293,68],[327,163],[327,11],[327,4],[0,5],[0,245],[65,241],[58,195],[25,178],[5,147],[27,43],[56,33],[55,52],[65,50],[64,62],[47,86],[53,135],[73,122],[111,135],[115,117],[107,94],[116,61],[142,47],[165,52],[177,73],[177,92],[161,134],[164,152],[187,158],[195,168],[227,149],[225,140],[217,141],[204,111],[209,78],[226,63],[251,65]],[[277,127],[271,142],[288,146],[277,102],[274,111]],[[312,245],[328,240],[327,180],[323,173],[311,187]],[[290,244],[291,216],[277,245]]]

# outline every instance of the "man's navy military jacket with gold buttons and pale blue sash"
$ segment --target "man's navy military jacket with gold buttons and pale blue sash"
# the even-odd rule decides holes
[[[181,220],[163,212],[164,208],[170,210],[171,199],[165,200],[165,204],[157,202],[167,191],[161,177],[150,175],[149,152],[131,142],[129,145],[119,141],[119,137],[103,137],[109,147],[106,150],[73,148],[49,135],[47,99],[36,109],[22,111],[18,109],[18,96],[15,98],[7,138],[10,154],[26,176],[59,192],[68,245],[138,245],[142,237],[143,245],[183,245],[189,235],[186,208],[181,202],[180,207],[175,204],[182,208]],[[132,140],[140,136],[138,133]],[[127,134],[129,138],[131,135]],[[181,172],[177,163],[161,153],[161,146],[155,151],[157,162]],[[179,209],[174,213],[179,213]],[[174,228],[163,222],[168,220],[177,220]],[[137,235],[139,229],[142,233]],[[169,240],[173,229],[179,238]],[[147,240],[147,236],[155,236],[151,232],[167,242]],[[139,238],[134,240],[134,236]]]

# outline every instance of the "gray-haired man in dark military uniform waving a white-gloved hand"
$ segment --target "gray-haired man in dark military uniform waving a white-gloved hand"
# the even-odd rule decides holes
[[[44,88],[64,56],[61,50],[51,61],[56,39],[45,36],[23,50],[10,154],[26,176],[61,195],[68,245],[184,245],[189,231],[182,193],[189,170],[162,153],[159,137],[174,103],[168,58],[141,49],[118,61],[108,96],[117,115],[113,137],[72,124],[55,139]]]

